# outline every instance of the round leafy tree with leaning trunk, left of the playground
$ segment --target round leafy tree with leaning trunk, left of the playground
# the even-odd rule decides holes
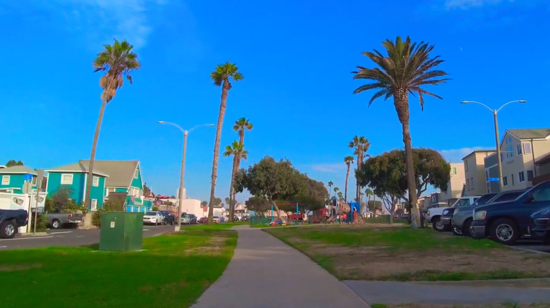
[[[277,218],[281,217],[281,210],[275,200],[290,200],[300,195],[306,189],[303,174],[296,170],[289,160],[279,160],[266,156],[247,170],[241,169],[236,177],[236,191],[246,188],[252,195],[263,196],[273,205]]]

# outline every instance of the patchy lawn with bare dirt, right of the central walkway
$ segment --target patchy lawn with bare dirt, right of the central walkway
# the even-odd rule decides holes
[[[462,281],[550,277],[549,257],[432,229],[364,225],[265,232],[348,280]]]

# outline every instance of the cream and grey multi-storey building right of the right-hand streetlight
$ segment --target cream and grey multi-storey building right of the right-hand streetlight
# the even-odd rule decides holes
[[[500,147],[503,191],[532,187],[544,171],[537,163],[550,153],[550,128],[507,129]]]

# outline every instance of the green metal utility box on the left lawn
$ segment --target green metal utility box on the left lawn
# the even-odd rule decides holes
[[[102,214],[99,250],[135,251],[143,245],[143,213]]]

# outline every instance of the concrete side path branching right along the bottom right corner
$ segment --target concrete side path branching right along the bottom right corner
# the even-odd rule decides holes
[[[362,298],[379,304],[532,304],[550,301],[546,288],[436,285],[395,281],[345,281]],[[396,293],[395,290],[398,290]]]

